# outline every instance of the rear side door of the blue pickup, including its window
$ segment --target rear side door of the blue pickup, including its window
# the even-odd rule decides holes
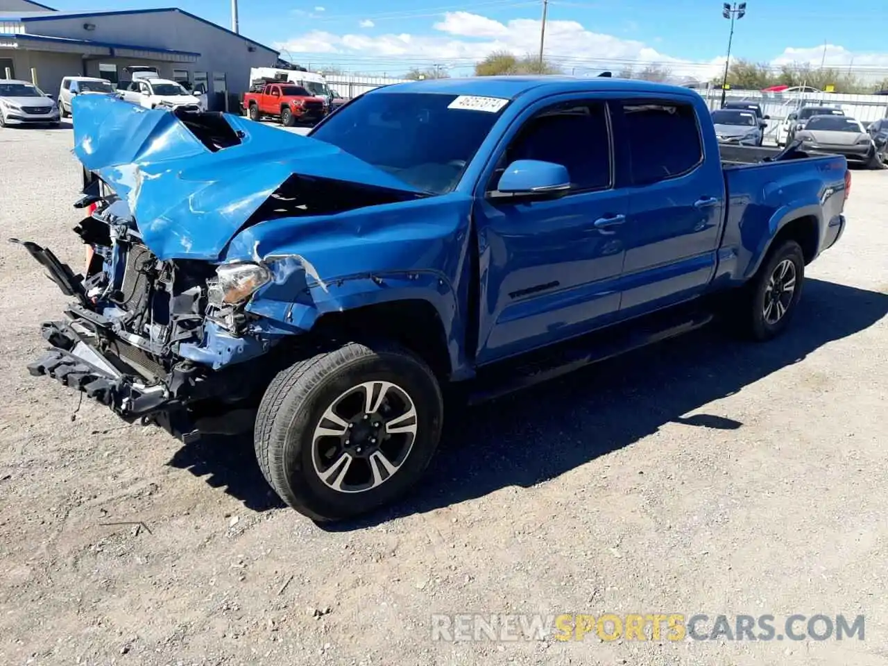
[[[717,265],[725,183],[702,99],[630,96],[614,106],[618,183],[629,195],[622,319],[706,288]]]

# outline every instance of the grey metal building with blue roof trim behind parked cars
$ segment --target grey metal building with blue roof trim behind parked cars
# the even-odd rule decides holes
[[[155,66],[164,78],[240,93],[250,67],[272,67],[274,49],[177,8],[57,12],[0,0],[0,78],[31,79],[55,95],[64,76],[126,80],[123,67]]]

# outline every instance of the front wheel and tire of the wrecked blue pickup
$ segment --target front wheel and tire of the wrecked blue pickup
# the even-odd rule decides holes
[[[292,508],[317,521],[351,518],[392,502],[419,480],[438,446],[443,412],[432,370],[413,353],[349,343],[274,377],[259,405],[256,456]],[[395,415],[389,425],[386,413]]]

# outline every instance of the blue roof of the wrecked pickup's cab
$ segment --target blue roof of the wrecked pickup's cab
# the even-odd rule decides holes
[[[581,76],[473,76],[471,78],[425,79],[408,83],[394,83],[374,92],[391,94],[394,92],[431,92],[443,95],[473,95],[515,99],[529,91],[537,96],[559,92],[651,92],[688,95],[696,91],[678,85],[615,79],[608,77]]]

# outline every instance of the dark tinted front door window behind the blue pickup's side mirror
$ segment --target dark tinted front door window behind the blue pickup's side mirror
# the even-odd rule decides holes
[[[570,102],[535,115],[506,150],[496,178],[516,160],[563,165],[575,191],[612,186],[607,105],[603,102]]]

